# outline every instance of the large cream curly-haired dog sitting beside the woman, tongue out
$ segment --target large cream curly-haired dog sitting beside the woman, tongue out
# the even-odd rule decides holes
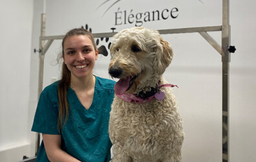
[[[157,31],[122,30],[111,44],[109,74],[120,80],[109,120],[112,162],[181,161],[184,140],[175,96],[162,74],[173,50]]]

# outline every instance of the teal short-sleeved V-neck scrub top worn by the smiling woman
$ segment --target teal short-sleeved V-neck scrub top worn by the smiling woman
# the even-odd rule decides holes
[[[61,148],[71,156],[85,162],[105,162],[111,159],[112,143],[109,139],[109,112],[114,98],[115,82],[96,77],[92,105],[86,110],[72,88],[67,89],[69,118],[58,130],[58,85],[47,86],[39,97],[32,131],[42,134],[60,134]],[[49,161],[43,141],[36,161]]]

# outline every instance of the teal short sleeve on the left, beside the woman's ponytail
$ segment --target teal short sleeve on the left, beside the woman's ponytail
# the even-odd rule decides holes
[[[32,131],[43,134],[59,134],[58,116],[58,90],[47,86],[39,97]]]

